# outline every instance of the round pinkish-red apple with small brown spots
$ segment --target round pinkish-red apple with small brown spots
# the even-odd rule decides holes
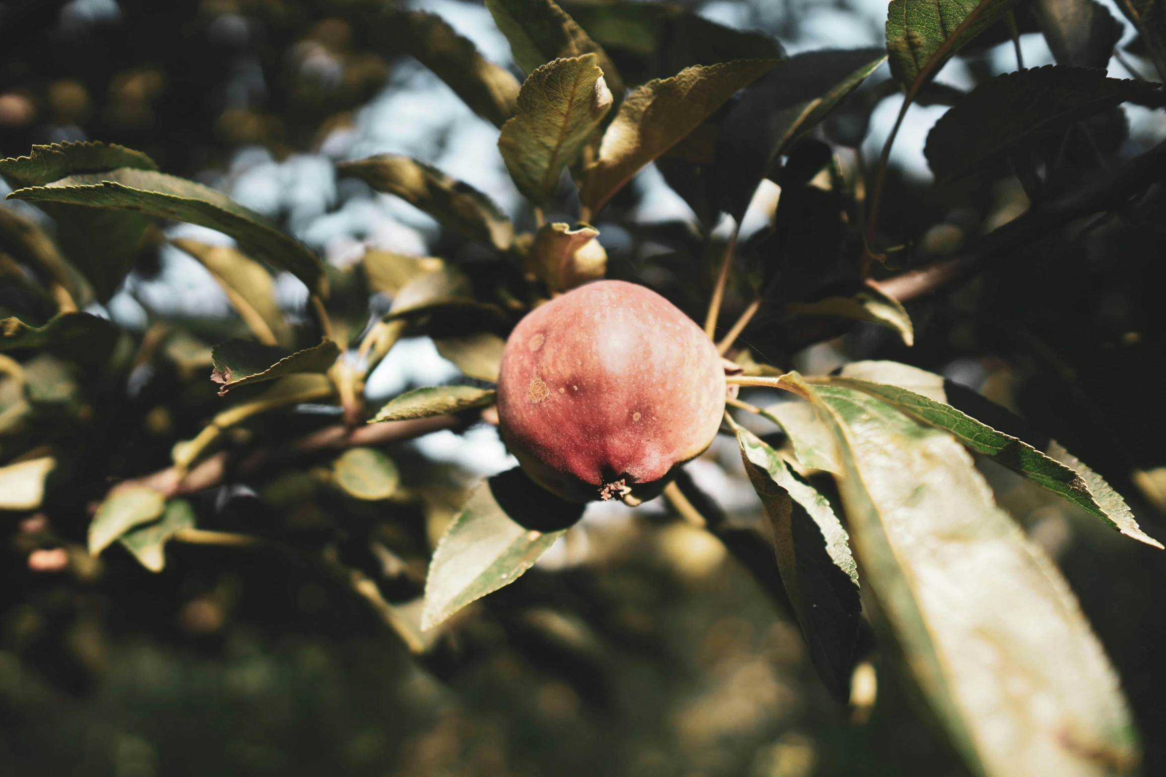
[[[499,430],[531,479],[573,502],[656,495],[716,437],[725,375],[709,338],[634,283],[597,281],[514,327]]]

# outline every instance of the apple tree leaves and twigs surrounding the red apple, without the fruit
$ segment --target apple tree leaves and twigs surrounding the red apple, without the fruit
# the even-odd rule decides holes
[[[346,586],[410,651],[431,656],[457,628],[448,619],[527,571],[582,508],[520,469],[451,503],[448,473],[399,443],[497,423],[492,383],[505,337],[535,305],[600,277],[649,282],[665,267],[668,281],[655,285],[703,318],[710,337],[726,332],[718,348],[743,373],[732,383],[796,397],[770,408],[731,400],[736,415],[723,428],[739,444],[774,552],[758,555],[760,534],[743,537],[696,507],[703,495],[690,481],[668,499],[788,608],[830,692],[850,695],[869,649],[865,615],[972,772],[1101,775],[1137,763],[1105,654],[1061,573],[996,506],[969,452],[1160,549],[1125,501],[1059,443],[932,372],[880,360],[829,376],[787,370],[792,354],[855,322],[912,346],[904,301],[1074,219],[1145,218],[1135,209],[1163,153],[1119,164],[1118,106],[1153,105],[1161,89],[1098,70],[1116,44],[1108,12],[1091,0],[893,0],[885,49],[786,57],[764,35],[663,5],[486,6],[521,83],[434,14],[385,9],[370,16],[368,35],[415,57],[499,128],[499,153],[529,213],[514,222],[485,193],[407,156],[336,165],[476,245],[472,262],[370,249],[354,268],[325,266],[267,218],[112,142],[35,146],[0,161],[9,197],[56,225],[54,240],[22,211],[0,209],[0,270],[10,282],[0,349],[12,354],[0,360],[0,509],[83,520],[90,556],[117,544],[154,572],[166,566],[168,543],[266,549]],[[1164,19],[1150,5],[1123,12],[1166,70]],[[1014,35],[1021,13],[1035,19],[1058,64],[988,78],[965,94],[935,83],[977,40],[1005,27]],[[887,59],[892,78],[864,84]],[[864,179],[843,157],[855,157],[887,86],[904,91],[902,107]],[[880,211],[904,210],[892,211],[890,151],[909,106],[923,100],[954,104],[926,144],[939,188],[1003,170],[1032,205],[970,247],[900,273],[927,257],[927,241],[916,222],[883,224]],[[652,163],[691,206],[696,228],[642,238],[674,247],[667,261],[609,257],[602,231],[626,224],[627,184]],[[764,181],[780,186],[777,204],[763,202]],[[771,227],[738,245],[746,212],[766,207]],[[548,222],[548,213],[573,217]],[[716,233],[722,214],[733,224],[728,240]],[[167,220],[233,239],[233,247],[171,241],[222,285],[238,312],[232,331],[156,322],[135,338],[80,312],[107,302],[143,247],[166,240]],[[308,320],[283,316],[273,271],[307,287]],[[366,304],[375,294],[392,298],[387,310]],[[464,379],[366,408],[370,372],[417,334]],[[139,386],[128,407],[127,382]],[[304,407],[324,410],[296,412]],[[780,439],[749,431],[743,415],[771,422]],[[119,446],[127,425],[152,442]],[[131,454],[142,450],[150,454]],[[278,531],[218,525],[198,509],[209,488],[232,482],[259,489],[282,518]],[[317,507],[338,497],[350,513],[345,531]],[[417,514],[426,518],[405,520]],[[361,541],[347,542],[358,525]],[[80,549],[50,530],[30,534],[84,565]],[[370,548],[392,570],[387,581],[364,571]],[[1052,722],[1046,709],[1056,712]]]

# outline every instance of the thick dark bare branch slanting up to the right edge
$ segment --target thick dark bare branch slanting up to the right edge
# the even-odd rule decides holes
[[[1166,141],[1121,167],[1096,171],[1061,195],[1041,199],[1024,216],[979,239],[967,254],[944,259],[872,284],[899,302],[937,291],[979,269],[989,260],[1024,248],[1040,236],[1086,216],[1118,211],[1151,184],[1166,178]]]

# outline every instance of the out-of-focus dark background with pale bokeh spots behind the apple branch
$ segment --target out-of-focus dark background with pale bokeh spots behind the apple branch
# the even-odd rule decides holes
[[[683,5],[730,27],[765,30],[789,54],[883,44],[881,0]],[[440,14],[487,58],[518,73],[482,5],[419,0],[412,7]],[[336,178],[335,161],[407,154],[485,191],[517,224],[531,224],[497,153],[497,129],[417,62],[377,40],[378,28],[368,22],[377,10],[367,0],[0,2],[0,154],[27,154],[31,143],[118,142],[148,153],[167,172],[222,189],[279,219],[336,267],[352,266],[368,247],[465,260],[473,249],[451,242],[429,217],[361,182]],[[1126,29],[1124,41],[1132,37]],[[1028,66],[1053,62],[1039,33],[1020,42]],[[965,90],[1014,68],[1012,43],[998,38],[953,61],[939,80]],[[1117,59],[1110,73],[1130,77]],[[858,94],[873,106],[869,127],[856,108],[844,116],[850,125],[833,128],[859,139],[868,160],[900,106],[901,97],[881,89],[887,78],[884,65]],[[978,211],[943,199],[921,204],[930,183],[923,139],[946,110],[912,107],[892,155],[888,221],[911,222],[912,209],[926,211],[915,219],[935,221],[922,241],[925,255],[941,254],[1026,206],[1010,179],[958,195],[978,203]],[[1129,135],[1119,154],[1166,137],[1161,111],[1123,111]],[[31,206],[2,206],[52,228]],[[655,167],[609,210],[607,221],[597,225],[600,241],[625,275],[693,232],[693,211]],[[764,226],[764,207],[754,209],[743,239]],[[224,240],[185,225],[166,234]],[[1139,268],[1163,255],[1160,239],[1130,243],[1104,231],[1096,239],[1103,256],[1128,250],[1149,257]],[[1089,264],[1090,271],[1115,277],[1101,264]],[[651,271],[653,284],[674,281]],[[1144,303],[1142,284],[1157,276],[1150,269],[1117,275],[1124,291],[1105,296],[1109,287],[1094,289],[1082,326],[1116,320],[1118,334],[1154,330],[1157,319],[1138,319],[1130,299]],[[1026,288],[1018,283],[1017,295]],[[304,287],[283,274],[276,290],[287,315],[303,318]],[[858,325],[780,359],[823,373],[852,359],[894,358],[1033,415],[1025,387],[1040,386],[1047,367],[985,337],[983,320],[960,315],[972,308],[960,298],[912,308],[920,327],[914,352],[895,345],[893,334]],[[89,310],[139,332],[163,318],[212,325],[233,316],[209,273],[166,243],[143,252],[112,299]],[[1131,316],[1138,320],[1123,323]],[[1138,358],[1157,363],[1161,352],[1152,347]],[[1114,363],[1121,374],[1124,362]],[[366,391],[375,401],[457,374],[430,340],[412,338],[389,352]],[[127,391],[149,377],[139,374]],[[1151,400],[1154,390],[1160,395],[1160,388],[1147,390]],[[761,391],[750,397],[754,404],[778,400]],[[1089,424],[1072,403],[1047,402],[1042,411],[1066,443],[1077,424]],[[1123,492],[1132,487],[1130,467],[1107,465],[1121,459],[1109,455],[1107,443],[1088,432],[1077,442],[1069,447],[1094,452],[1091,459],[1081,455]],[[1149,450],[1142,455],[1138,448],[1139,467],[1152,468],[1143,466],[1146,457],[1166,464],[1152,460],[1153,444]],[[399,460],[410,457],[465,485],[514,464],[487,425],[402,445]],[[708,509],[743,528],[760,525],[735,444],[715,445],[687,472],[715,499]],[[1166,774],[1163,561],[1019,479],[986,465],[985,473],[1002,504],[1062,564],[1122,674],[1147,743],[1145,774]],[[260,520],[248,487],[222,486],[202,499],[224,522]],[[1139,504],[1149,509],[1139,520],[1151,535],[1166,536],[1151,502],[1143,497]],[[430,509],[420,525],[431,539],[450,515]],[[877,650],[873,708],[833,701],[796,626],[717,539],[677,522],[662,503],[634,511],[589,508],[527,575],[471,608],[448,649],[420,662],[351,593],[281,559],[171,545],[167,571],[154,575],[114,549],[87,567],[37,574],[27,568],[21,544],[28,530],[15,517],[0,517],[0,531],[12,537],[0,563],[6,775],[964,774]],[[423,568],[385,574],[415,585]]]

